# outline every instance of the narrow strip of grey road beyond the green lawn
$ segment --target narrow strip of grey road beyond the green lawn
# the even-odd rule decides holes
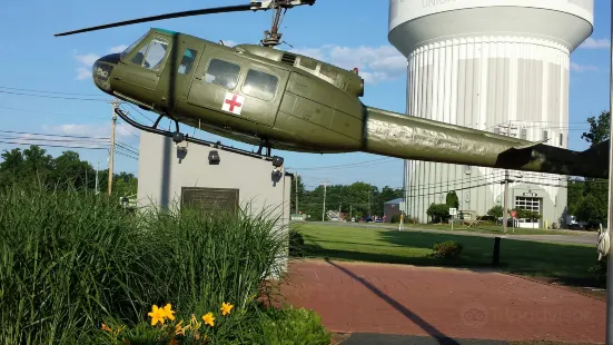
[[[363,227],[370,229],[386,229],[386,230],[397,230],[398,226],[387,226],[387,225],[373,225],[364,223],[333,223],[333,221],[309,221],[309,224],[315,225],[325,225],[325,226],[354,226]],[[547,243],[563,243],[563,244],[574,244],[574,245],[586,245],[596,247],[596,241],[599,234],[591,231],[573,231],[574,235],[497,235],[497,234],[487,234],[478,231],[466,231],[466,230],[436,230],[436,229],[422,229],[422,228],[404,228],[405,231],[418,231],[418,233],[432,233],[432,234],[453,234],[459,236],[479,236],[479,237],[501,237],[507,239],[518,239],[518,240],[532,240],[532,241],[547,241]]]

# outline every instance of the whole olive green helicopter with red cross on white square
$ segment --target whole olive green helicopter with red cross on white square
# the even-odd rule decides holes
[[[609,141],[573,151],[493,132],[368,107],[360,101],[364,79],[304,55],[275,49],[279,22],[288,9],[315,0],[268,0],[146,17],[76,31],[210,13],[273,10],[273,24],[259,45],[227,47],[195,36],[150,29],[121,53],[92,67],[103,92],[159,115],[152,126],[125,121],[141,130],[182,141],[270,158],[271,148],[289,151],[369,152],[403,159],[609,178]],[[175,131],[158,128],[167,117]],[[224,147],[180,132],[179,122],[237,141],[256,152]],[[266,147],[266,154],[263,148]]]

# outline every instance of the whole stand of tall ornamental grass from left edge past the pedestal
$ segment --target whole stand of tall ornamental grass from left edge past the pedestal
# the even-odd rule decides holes
[[[257,297],[274,298],[287,233],[271,211],[126,211],[115,198],[77,191],[0,196],[0,343],[101,344],[102,323],[135,342],[151,333],[151,305],[177,318],[235,305],[210,339],[261,334]],[[201,322],[201,319],[200,319]],[[145,342],[146,343],[146,342]],[[249,342],[246,342],[249,343]]]

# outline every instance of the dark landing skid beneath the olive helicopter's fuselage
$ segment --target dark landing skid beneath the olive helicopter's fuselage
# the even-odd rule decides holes
[[[235,154],[239,154],[239,155],[244,155],[244,156],[248,156],[248,157],[253,157],[253,158],[269,160],[269,161],[273,161],[275,158],[280,158],[280,157],[276,157],[276,156],[270,157],[270,151],[267,152],[268,155],[261,155],[260,152],[255,154],[255,152],[250,152],[250,151],[243,150],[243,149],[239,149],[239,148],[235,148],[235,147],[231,147],[231,146],[224,146],[219,141],[212,142],[212,141],[208,141],[208,140],[204,140],[204,139],[189,137],[188,135],[181,134],[179,131],[179,122],[177,120],[172,119],[172,118],[171,119],[175,121],[176,131],[159,129],[159,128],[157,128],[157,126],[158,126],[159,121],[161,120],[161,118],[165,117],[164,115],[160,115],[158,117],[158,119],[156,120],[154,126],[146,126],[146,125],[139,124],[139,122],[132,120],[131,118],[129,118],[127,116],[126,111],[123,111],[120,108],[116,108],[115,112],[123,121],[128,122],[130,126],[134,126],[134,127],[136,127],[140,130],[145,130],[145,131],[152,132],[152,134],[156,134],[156,135],[172,138],[172,140],[176,144],[187,141],[187,142],[192,142],[192,144],[196,144],[196,145],[202,145],[202,146],[208,146],[208,147],[211,147],[211,148],[224,149],[224,150],[227,150],[227,151],[230,151],[230,152],[235,152]]]

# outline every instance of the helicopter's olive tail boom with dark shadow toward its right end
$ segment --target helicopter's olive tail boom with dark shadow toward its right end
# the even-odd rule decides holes
[[[573,151],[365,107],[363,150],[404,159],[609,178],[609,141]]]

